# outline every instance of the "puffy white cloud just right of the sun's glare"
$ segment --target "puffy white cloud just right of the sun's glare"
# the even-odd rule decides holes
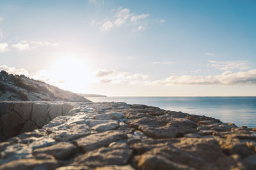
[[[147,80],[148,75],[140,73],[100,70],[97,72],[97,74],[95,74],[95,77],[100,78],[101,83],[140,84]]]

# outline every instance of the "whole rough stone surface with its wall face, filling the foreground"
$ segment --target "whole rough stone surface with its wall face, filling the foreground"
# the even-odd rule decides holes
[[[0,169],[255,169],[256,129],[125,103],[0,103]]]

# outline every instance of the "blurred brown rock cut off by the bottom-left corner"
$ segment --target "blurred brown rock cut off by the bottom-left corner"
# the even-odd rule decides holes
[[[0,166],[3,170],[25,170],[25,169],[56,169],[56,160],[20,159],[8,162]]]

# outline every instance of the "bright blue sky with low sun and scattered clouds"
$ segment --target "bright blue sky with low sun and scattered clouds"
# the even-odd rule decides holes
[[[255,8],[0,0],[0,70],[106,96],[256,96]]]

